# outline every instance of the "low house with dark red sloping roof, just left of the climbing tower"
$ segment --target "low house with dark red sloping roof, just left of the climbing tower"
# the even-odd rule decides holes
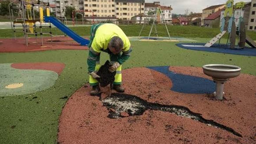
[[[204,19],[204,26],[205,27],[219,27],[220,25],[220,18],[221,18],[221,11],[225,8],[218,10],[215,13],[212,13],[208,17]]]

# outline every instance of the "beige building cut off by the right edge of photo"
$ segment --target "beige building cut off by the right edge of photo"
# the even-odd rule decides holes
[[[256,31],[256,0],[252,0],[250,7],[250,15],[248,20],[248,30]]]

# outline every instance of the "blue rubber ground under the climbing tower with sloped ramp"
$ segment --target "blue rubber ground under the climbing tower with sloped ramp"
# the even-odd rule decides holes
[[[256,49],[244,48],[244,49],[229,49],[225,44],[214,44],[211,47],[205,47],[204,43],[179,43],[176,44],[178,47],[184,49],[192,49],[196,51],[210,51],[224,54],[236,54],[244,56],[256,56]]]

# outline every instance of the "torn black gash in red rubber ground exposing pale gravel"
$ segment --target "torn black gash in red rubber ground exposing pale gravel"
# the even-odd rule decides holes
[[[208,126],[220,128],[242,137],[242,135],[234,131],[234,129],[214,122],[213,120],[207,120],[203,118],[200,113],[194,113],[184,106],[150,103],[137,96],[122,93],[112,93],[111,97],[107,97],[103,100],[103,105],[108,109],[115,109],[114,112],[109,113],[109,118],[122,118],[120,115],[121,112],[127,112],[130,116],[133,116],[142,115],[146,110],[166,111],[178,116],[191,118],[192,120],[205,123]]]

